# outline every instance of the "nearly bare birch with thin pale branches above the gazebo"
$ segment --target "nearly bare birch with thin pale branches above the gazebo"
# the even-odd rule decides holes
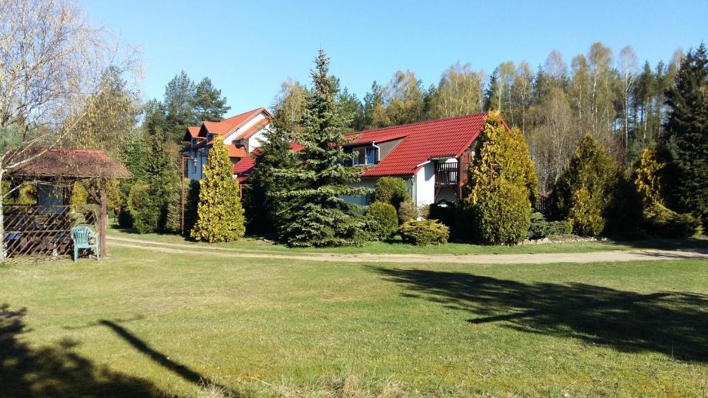
[[[69,138],[80,140],[72,137],[76,127],[100,116],[96,105],[108,89],[103,72],[117,63],[117,50],[72,1],[0,2],[0,184],[11,169]],[[0,193],[0,236],[3,201],[18,188]]]

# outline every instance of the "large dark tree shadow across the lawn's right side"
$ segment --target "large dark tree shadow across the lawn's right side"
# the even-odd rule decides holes
[[[462,272],[372,267],[406,297],[474,314],[527,333],[572,337],[617,351],[654,351],[708,362],[708,295],[641,294],[584,283],[521,283]]]

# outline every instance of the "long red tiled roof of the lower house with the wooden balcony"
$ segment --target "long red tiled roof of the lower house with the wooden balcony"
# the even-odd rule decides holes
[[[355,142],[384,142],[405,137],[379,164],[362,176],[412,176],[421,164],[438,157],[459,157],[484,128],[486,113],[355,132]],[[351,145],[351,144],[348,144]]]

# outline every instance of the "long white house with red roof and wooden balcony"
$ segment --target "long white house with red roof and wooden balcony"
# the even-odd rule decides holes
[[[486,113],[476,113],[348,134],[353,141],[345,145],[346,152],[356,154],[351,165],[365,169],[355,185],[374,188],[378,178],[394,176],[404,178],[418,205],[457,201],[485,118]],[[293,151],[301,148],[294,145]],[[234,176],[244,181],[253,163],[253,157],[246,157],[234,164]],[[348,200],[367,205],[369,199]]]

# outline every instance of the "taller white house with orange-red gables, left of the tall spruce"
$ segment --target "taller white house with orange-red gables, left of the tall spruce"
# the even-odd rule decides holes
[[[267,109],[256,108],[221,122],[205,121],[198,127],[188,127],[184,135],[188,145],[183,150],[187,158],[185,176],[193,180],[204,177],[204,166],[214,140],[226,144],[232,164],[248,158],[248,154],[261,145],[259,140],[263,140],[263,131],[272,118]]]

